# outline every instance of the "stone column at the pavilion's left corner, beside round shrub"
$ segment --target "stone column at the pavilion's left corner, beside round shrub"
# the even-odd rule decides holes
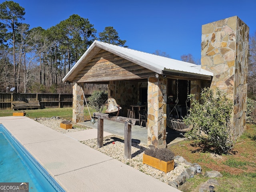
[[[84,122],[84,95],[82,88],[77,83],[73,86],[72,122]]]

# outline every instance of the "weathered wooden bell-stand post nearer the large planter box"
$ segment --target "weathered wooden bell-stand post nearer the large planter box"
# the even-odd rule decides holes
[[[124,158],[132,158],[132,125],[124,123]]]

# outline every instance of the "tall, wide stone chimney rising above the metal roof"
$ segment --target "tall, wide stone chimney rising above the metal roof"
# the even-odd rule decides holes
[[[214,73],[210,88],[220,88],[234,101],[234,138],[246,126],[249,28],[237,16],[202,26],[202,68]]]

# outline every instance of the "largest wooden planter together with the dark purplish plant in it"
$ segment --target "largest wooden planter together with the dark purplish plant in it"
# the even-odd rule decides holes
[[[174,170],[174,153],[168,148],[146,149],[142,163],[167,173]]]

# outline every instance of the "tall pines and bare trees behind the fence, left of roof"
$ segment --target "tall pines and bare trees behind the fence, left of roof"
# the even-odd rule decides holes
[[[97,34],[87,18],[77,14],[48,29],[23,23],[25,9],[13,1],[0,4],[0,92],[56,92],[62,78],[94,40],[125,46],[107,26]],[[127,47],[127,46],[125,46]],[[70,88],[67,88],[70,90]]]

